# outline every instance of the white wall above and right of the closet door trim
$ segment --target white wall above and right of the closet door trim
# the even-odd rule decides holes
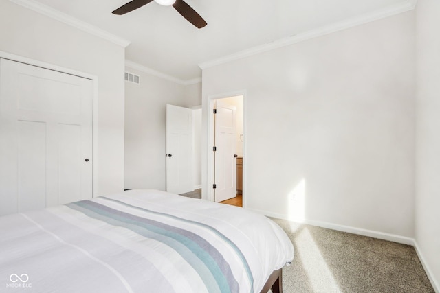
[[[124,47],[0,0],[0,51],[98,76],[94,196],[124,187]]]

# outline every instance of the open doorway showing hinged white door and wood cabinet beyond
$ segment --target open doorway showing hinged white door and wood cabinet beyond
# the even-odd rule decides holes
[[[243,95],[213,103],[214,201],[243,207]]]

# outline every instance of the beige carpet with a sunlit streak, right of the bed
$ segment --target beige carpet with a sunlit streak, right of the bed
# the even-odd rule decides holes
[[[292,240],[291,292],[434,292],[412,246],[272,219]]]

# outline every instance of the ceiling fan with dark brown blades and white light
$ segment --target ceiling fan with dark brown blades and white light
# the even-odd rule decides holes
[[[186,4],[184,0],[133,0],[125,5],[122,5],[120,8],[111,13],[118,15],[126,14],[127,12],[141,8],[142,6],[153,1],[164,6],[173,5],[175,10],[177,10],[181,16],[184,16],[187,21],[195,25],[197,28],[204,27],[207,24],[206,21],[202,19],[201,16],[190,7],[190,5]]]

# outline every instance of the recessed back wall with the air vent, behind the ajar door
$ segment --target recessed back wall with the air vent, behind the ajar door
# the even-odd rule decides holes
[[[125,85],[125,188],[166,188],[166,104],[200,104],[199,85],[187,86],[126,67],[140,84]]]

